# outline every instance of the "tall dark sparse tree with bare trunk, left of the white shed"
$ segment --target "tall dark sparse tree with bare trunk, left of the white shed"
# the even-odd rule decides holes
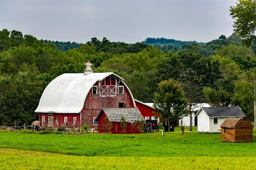
[[[196,76],[196,72],[193,69],[188,68],[178,79],[183,87],[185,97],[188,99],[189,117],[190,117],[190,131],[192,131],[193,119],[192,119],[192,106],[197,105],[203,101],[203,87],[201,85],[201,79]]]

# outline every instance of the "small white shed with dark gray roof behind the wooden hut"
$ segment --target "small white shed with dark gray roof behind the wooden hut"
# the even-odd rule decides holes
[[[197,132],[221,132],[221,124],[227,118],[243,118],[245,114],[240,107],[202,107],[196,114]]]

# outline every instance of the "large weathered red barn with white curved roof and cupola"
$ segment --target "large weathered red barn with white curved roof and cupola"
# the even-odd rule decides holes
[[[65,73],[44,89],[38,108],[40,127],[97,128],[102,108],[134,108],[135,101],[123,78],[114,73]]]

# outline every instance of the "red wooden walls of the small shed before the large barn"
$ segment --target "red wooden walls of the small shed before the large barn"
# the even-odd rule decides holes
[[[105,133],[105,130],[103,128],[103,124],[105,123],[105,118],[106,114],[102,113],[100,115],[100,118],[98,119],[98,132],[99,133]],[[126,123],[127,128],[125,131],[125,134],[141,134],[140,131],[136,129],[136,123]],[[112,134],[122,134],[122,127],[120,122],[113,122],[112,123],[112,129],[111,129]]]

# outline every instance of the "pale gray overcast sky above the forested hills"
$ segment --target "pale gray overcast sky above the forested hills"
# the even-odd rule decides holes
[[[0,30],[37,39],[86,43],[96,37],[137,43],[146,38],[210,42],[230,36],[236,0],[0,0]]]

